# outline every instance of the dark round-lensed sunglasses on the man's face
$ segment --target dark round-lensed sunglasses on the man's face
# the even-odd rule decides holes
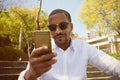
[[[61,22],[59,24],[50,24],[48,25],[48,28],[50,29],[50,31],[56,31],[57,25],[61,30],[65,30],[68,26],[68,22]]]

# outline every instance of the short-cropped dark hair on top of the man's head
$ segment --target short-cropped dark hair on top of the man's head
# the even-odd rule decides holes
[[[56,14],[56,13],[64,13],[64,14],[66,15],[67,19],[69,20],[69,22],[71,22],[71,16],[70,16],[69,12],[67,12],[66,10],[63,10],[63,9],[55,9],[55,10],[53,10],[53,11],[50,13],[49,17],[50,17],[51,15]]]

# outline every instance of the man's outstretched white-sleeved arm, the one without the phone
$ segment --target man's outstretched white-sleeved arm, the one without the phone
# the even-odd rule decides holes
[[[97,67],[98,69],[112,75],[120,76],[120,61],[111,57],[97,48],[88,45],[87,53],[89,57],[89,63]]]

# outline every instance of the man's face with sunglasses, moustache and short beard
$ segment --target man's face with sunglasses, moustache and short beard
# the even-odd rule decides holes
[[[70,33],[72,31],[72,23],[69,22],[64,13],[57,13],[49,17],[49,24],[53,25],[54,29],[51,35],[58,46],[69,44]]]

